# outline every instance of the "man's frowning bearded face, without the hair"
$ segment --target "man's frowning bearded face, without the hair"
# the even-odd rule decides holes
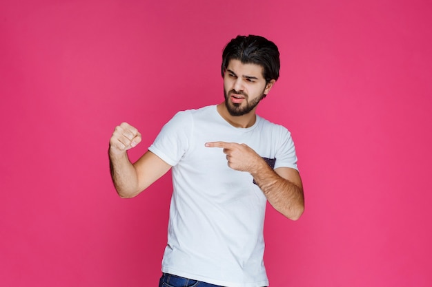
[[[263,67],[230,60],[224,75],[225,105],[231,116],[243,116],[255,110],[274,80],[266,84]]]

